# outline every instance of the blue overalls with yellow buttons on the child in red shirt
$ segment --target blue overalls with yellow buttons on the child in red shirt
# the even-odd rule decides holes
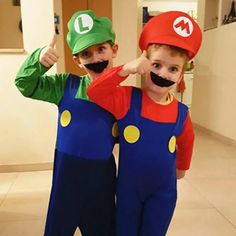
[[[176,204],[176,136],[187,107],[179,103],[176,123],[160,123],[141,117],[141,104],[133,88],[130,110],[118,120],[116,236],[164,236]]]

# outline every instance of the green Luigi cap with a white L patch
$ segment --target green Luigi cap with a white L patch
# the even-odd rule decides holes
[[[67,26],[69,32],[66,40],[73,55],[96,44],[115,42],[111,20],[107,17],[97,18],[91,10],[76,12]]]

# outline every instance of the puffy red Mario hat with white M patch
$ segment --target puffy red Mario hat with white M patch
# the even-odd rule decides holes
[[[181,11],[168,11],[147,22],[139,38],[139,47],[143,51],[149,44],[168,44],[188,51],[191,60],[201,42],[201,29],[192,17]]]

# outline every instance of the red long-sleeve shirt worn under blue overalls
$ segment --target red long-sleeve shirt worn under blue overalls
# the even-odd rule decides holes
[[[93,81],[88,90],[88,96],[99,106],[111,112],[117,120],[123,118],[130,108],[131,86],[120,86],[126,79],[118,75],[122,66],[106,70]],[[141,116],[147,119],[174,123],[178,116],[178,101],[174,98],[168,104],[155,103],[142,89]],[[182,133],[176,137],[177,152],[176,165],[180,170],[189,169],[193,151],[194,133],[190,115],[188,113]]]

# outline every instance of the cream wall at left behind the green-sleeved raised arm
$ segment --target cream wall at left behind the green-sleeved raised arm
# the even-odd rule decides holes
[[[25,53],[0,53],[0,165],[44,163],[53,158],[56,107],[24,98],[14,84],[25,58],[52,36],[53,4],[21,0],[21,11]]]

